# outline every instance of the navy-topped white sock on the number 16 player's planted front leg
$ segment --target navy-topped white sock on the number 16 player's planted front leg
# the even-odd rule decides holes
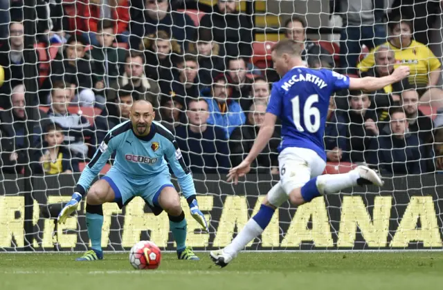
[[[223,249],[224,253],[235,257],[239,251],[242,251],[242,249],[246,247],[248,242],[251,242],[251,240],[254,240],[263,233],[266,226],[271,222],[274,211],[271,207],[262,204],[258,213],[246,222],[242,231]]]

